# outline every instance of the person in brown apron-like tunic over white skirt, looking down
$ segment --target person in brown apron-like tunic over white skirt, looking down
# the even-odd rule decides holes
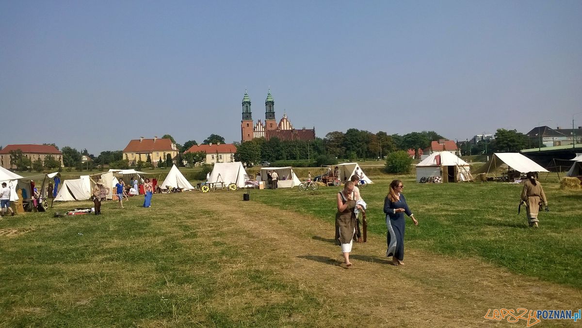
[[[347,181],[342,191],[338,192],[338,212],[335,214],[336,240],[339,241],[339,245],[342,247],[343,258],[347,267],[352,266],[350,252],[352,252],[353,238],[356,232],[356,216],[354,215],[356,201],[350,200],[353,192],[354,183]]]

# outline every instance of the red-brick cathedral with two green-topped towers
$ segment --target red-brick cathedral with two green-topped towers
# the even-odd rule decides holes
[[[243,97],[243,120],[240,121],[240,142],[261,138],[269,140],[272,137],[278,137],[279,140],[314,140],[315,128],[313,129],[293,129],[289,122],[287,114],[277,124],[275,120],[275,100],[271,96],[271,90],[265,100],[265,123],[259,119],[257,124],[253,123],[253,114],[251,113],[251,98],[249,93],[244,91]]]

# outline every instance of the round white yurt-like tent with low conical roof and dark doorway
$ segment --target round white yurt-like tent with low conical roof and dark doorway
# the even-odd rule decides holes
[[[442,182],[468,181],[470,166],[449,151],[435,151],[416,165],[416,182],[423,177],[441,177]]]

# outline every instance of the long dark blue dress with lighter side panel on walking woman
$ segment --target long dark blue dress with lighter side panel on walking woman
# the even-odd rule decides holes
[[[394,213],[395,209],[404,209],[404,212]],[[396,259],[404,260],[404,213],[411,216],[412,212],[406,204],[404,195],[400,194],[398,202],[391,202],[388,196],[384,199],[384,213],[386,213],[386,235],[388,251],[386,256],[395,256]]]

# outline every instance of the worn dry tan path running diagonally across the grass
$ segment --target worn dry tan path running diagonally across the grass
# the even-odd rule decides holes
[[[577,310],[582,304],[579,290],[518,276],[477,259],[442,258],[407,248],[406,265],[392,266],[384,257],[385,239],[377,235],[369,236],[366,244],[354,244],[354,266],[346,269],[332,241],[332,224],[242,202],[240,193],[203,197],[205,209],[223,218],[221,224],[228,221],[246,231],[249,247],[260,251],[250,259],[254,266],[274,270],[321,295],[325,313],[314,325],[329,325],[326,320],[336,318],[342,326],[342,318],[357,316],[360,326],[526,326],[523,320],[509,324],[484,316],[488,309]],[[548,323],[574,325],[571,320],[550,320],[537,326]]]

